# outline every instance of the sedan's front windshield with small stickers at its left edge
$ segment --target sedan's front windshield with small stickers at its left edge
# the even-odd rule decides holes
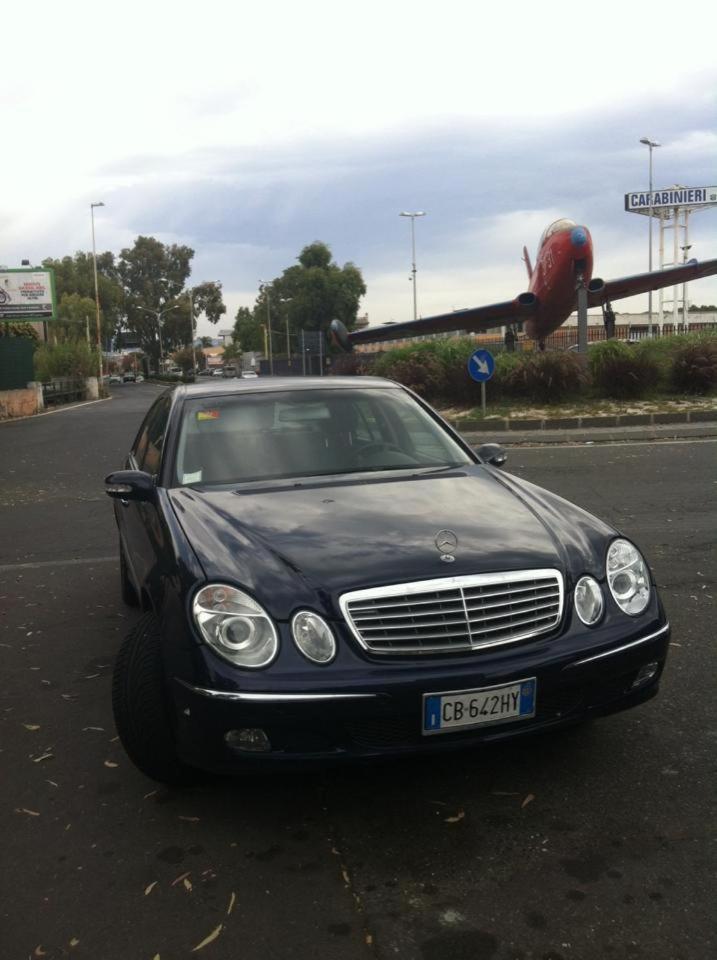
[[[402,390],[240,393],[184,402],[175,482],[242,483],[472,462]]]

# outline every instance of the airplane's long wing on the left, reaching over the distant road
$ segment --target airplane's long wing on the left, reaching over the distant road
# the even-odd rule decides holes
[[[532,316],[538,309],[538,301],[532,293],[523,293],[515,300],[505,303],[492,303],[487,307],[471,307],[468,310],[454,310],[440,313],[435,317],[421,317],[405,323],[387,323],[380,327],[367,327],[349,333],[350,343],[378,343],[382,340],[401,340],[403,337],[420,337],[426,333],[447,333],[453,330],[467,330],[470,333],[501,327],[503,324],[517,323]]]

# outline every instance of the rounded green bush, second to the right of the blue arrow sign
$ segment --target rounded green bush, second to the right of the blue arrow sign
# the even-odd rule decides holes
[[[656,352],[640,350],[619,340],[596,343],[588,351],[593,386],[600,396],[619,400],[643,397],[661,382]]]

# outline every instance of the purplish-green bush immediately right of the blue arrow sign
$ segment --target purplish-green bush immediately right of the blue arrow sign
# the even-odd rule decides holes
[[[501,364],[505,393],[539,403],[560,402],[580,393],[589,382],[582,358],[550,351],[513,355]]]

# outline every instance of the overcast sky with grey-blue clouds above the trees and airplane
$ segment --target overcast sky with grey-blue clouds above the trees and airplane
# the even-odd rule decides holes
[[[14,4],[3,13],[0,263],[138,234],[196,251],[231,326],[260,279],[328,243],[372,323],[504,300],[559,216],[587,224],[595,274],[647,267],[623,195],[717,182],[713,3],[443,0]],[[673,24],[674,26],[670,26]],[[717,209],[691,255],[717,256]],[[657,260],[657,248],[655,247]],[[692,285],[717,302],[715,278]],[[645,298],[622,301],[637,311]],[[214,332],[208,324],[200,332]]]

